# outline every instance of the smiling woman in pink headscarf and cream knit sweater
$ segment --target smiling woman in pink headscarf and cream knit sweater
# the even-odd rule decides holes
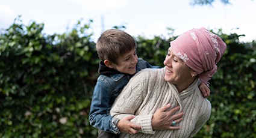
[[[205,28],[185,32],[170,43],[162,69],[142,70],[134,76],[116,99],[111,116],[122,119],[136,115],[131,122],[142,127],[134,135],[120,137],[193,137],[210,118],[211,104],[198,89],[198,78],[208,85],[216,73],[217,62],[226,44]],[[170,103],[180,106],[180,130],[159,130],[157,110]],[[175,114],[176,114],[175,113]]]

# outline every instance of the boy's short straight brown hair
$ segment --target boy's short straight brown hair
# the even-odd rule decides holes
[[[99,59],[103,62],[108,60],[113,64],[118,64],[117,60],[120,56],[136,47],[134,38],[119,29],[109,29],[103,32],[96,43]]]

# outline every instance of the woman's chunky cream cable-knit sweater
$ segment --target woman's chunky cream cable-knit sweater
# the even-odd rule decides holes
[[[193,137],[211,115],[211,104],[202,94],[194,81],[189,88],[178,92],[175,85],[164,80],[164,70],[145,69],[137,73],[116,98],[110,115],[122,119],[136,115],[131,120],[142,130],[134,135],[122,133],[120,137]],[[177,113],[184,112],[183,121],[176,124],[180,130],[152,130],[153,114],[170,103],[172,109],[180,105]]]

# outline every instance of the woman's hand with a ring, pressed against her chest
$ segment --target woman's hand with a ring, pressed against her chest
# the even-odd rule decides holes
[[[181,122],[183,118],[181,116],[184,115],[184,112],[178,113],[177,115],[173,115],[177,110],[180,109],[180,106],[177,106],[167,112],[165,110],[170,108],[170,104],[161,107],[155,112],[152,117],[152,128],[153,130],[179,130],[180,127],[172,126],[172,121],[175,121],[176,124]]]

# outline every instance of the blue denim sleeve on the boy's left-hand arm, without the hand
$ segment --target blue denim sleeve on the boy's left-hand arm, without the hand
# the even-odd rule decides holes
[[[119,119],[113,118],[109,115],[111,106],[110,102],[110,88],[101,79],[95,86],[92,98],[92,104],[90,107],[89,121],[90,125],[103,131],[107,131],[114,134],[119,134],[120,131],[116,127]],[[109,107],[110,106],[110,107]]]

